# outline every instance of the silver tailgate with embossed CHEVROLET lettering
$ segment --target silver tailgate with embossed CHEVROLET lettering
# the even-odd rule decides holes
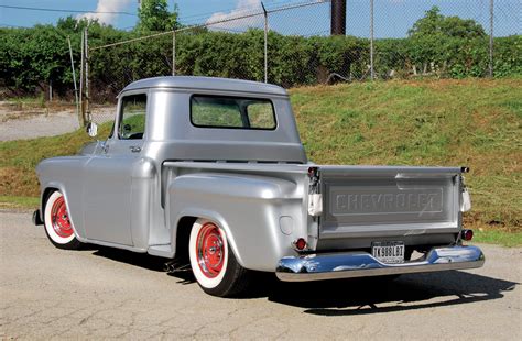
[[[319,239],[459,229],[460,168],[320,166]]]

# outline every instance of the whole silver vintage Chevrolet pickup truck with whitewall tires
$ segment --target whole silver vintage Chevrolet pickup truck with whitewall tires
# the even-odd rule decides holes
[[[254,271],[298,282],[480,267],[480,249],[463,245],[466,170],[316,165],[283,88],[159,77],[121,91],[107,140],[37,165],[33,220],[57,248],[166,257],[235,296]]]

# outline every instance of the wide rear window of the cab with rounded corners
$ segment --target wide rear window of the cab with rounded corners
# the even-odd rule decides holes
[[[207,128],[273,130],[276,127],[272,101],[247,97],[194,95],[191,121]]]

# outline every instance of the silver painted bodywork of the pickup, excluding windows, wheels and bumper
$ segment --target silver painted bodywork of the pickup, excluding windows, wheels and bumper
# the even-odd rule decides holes
[[[461,229],[460,167],[314,165],[323,209],[309,216],[312,164],[280,87],[159,77],[129,85],[120,101],[137,94],[148,98],[142,140],[112,134],[36,168],[42,195],[48,188],[64,194],[80,241],[173,257],[180,222],[199,217],[227,232],[242,266],[274,272],[281,258],[297,256],[292,242],[298,238],[317,252],[390,240],[448,245]],[[196,128],[193,94],[269,99],[278,127]],[[117,114],[115,129],[118,121]],[[319,267],[318,261],[309,266]]]

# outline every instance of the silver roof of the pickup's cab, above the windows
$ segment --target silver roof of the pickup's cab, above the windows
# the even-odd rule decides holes
[[[286,90],[282,87],[260,81],[218,78],[218,77],[199,77],[199,76],[164,76],[144,78],[128,85],[121,92],[137,89],[149,88],[176,88],[189,90],[215,90],[215,91],[233,91],[233,92],[258,92],[265,95],[287,96]]]

